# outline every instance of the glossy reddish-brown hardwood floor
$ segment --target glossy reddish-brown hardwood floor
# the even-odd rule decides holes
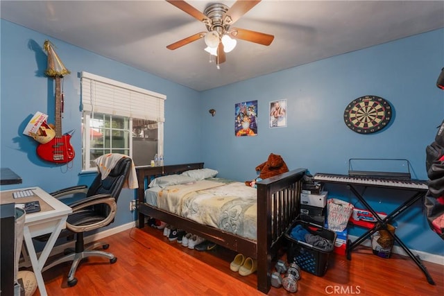
[[[212,252],[189,250],[169,242],[152,227],[129,229],[105,238],[117,263],[89,259],[76,272],[78,284],[67,286],[69,264],[44,272],[48,295],[263,295],[256,290],[257,277],[242,277],[230,270],[236,255],[218,247]],[[282,259],[285,255],[283,255]],[[327,273],[316,277],[302,271],[296,295],[444,295],[444,266],[424,262],[436,286],[409,258],[393,254],[375,256],[358,247],[352,260],[331,254]],[[290,295],[271,288],[268,295]],[[37,292],[35,295],[40,295]]]

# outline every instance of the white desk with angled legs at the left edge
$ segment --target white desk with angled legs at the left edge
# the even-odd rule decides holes
[[[17,189],[12,189],[8,191],[0,191],[0,203],[7,204],[10,202],[22,203],[29,202],[32,200],[39,200],[41,211],[32,214],[26,214],[25,224],[24,224],[24,241],[26,248],[28,249],[29,259],[33,266],[33,271],[35,274],[35,279],[37,279],[37,285],[39,287],[40,295],[47,295],[46,288],[44,286],[44,281],[42,277],[42,269],[48,259],[51,250],[56,243],[56,240],[62,231],[66,227],[66,221],[68,214],[72,212],[72,209],[68,207],[63,202],[60,202],[53,196],[49,195],[39,187],[33,188],[23,188],[33,189],[33,192],[37,196],[30,196],[28,198],[12,198],[12,192],[17,191]],[[42,250],[40,257],[37,258],[35,252],[33,237],[41,236],[43,234],[51,234],[49,240],[47,241],[44,249]]]

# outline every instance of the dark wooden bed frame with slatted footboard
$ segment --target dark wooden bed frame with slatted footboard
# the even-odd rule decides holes
[[[187,218],[146,204],[144,191],[154,177],[182,173],[203,168],[203,163],[173,166],[137,167],[138,227],[143,228],[145,217],[156,218],[191,232],[230,250],[257,259],[257,290],[268,293],[271,288],[272,261],[284,243],[284,232],[300,213],[300,191],[305,168],[298,168],[257,183],[257,241],[253,241],[221,229],[200,225]]]

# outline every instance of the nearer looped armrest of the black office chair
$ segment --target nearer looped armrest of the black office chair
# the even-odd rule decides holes
[[[67,222],[67,229],[71,230],[72,232],[88,232],[89,230],[98,229],[110,224],[117,213],[116,200],[110,194],[92,195],[89,196],[89,198],[84,198],[83,200],[78,200],[77,202],[74,202],[70,205],[70,207],[72,208],[73,213],[75,213],[80,209],[90,207],[94,204],[108,204],[108,206],[110,207],[110,214],[108,214],[105,219],[89,225],[72,225]]]

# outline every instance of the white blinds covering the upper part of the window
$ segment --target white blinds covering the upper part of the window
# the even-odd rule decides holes
[[[80,76],[84,111],[165,121],[167,96],[92,73]]]

